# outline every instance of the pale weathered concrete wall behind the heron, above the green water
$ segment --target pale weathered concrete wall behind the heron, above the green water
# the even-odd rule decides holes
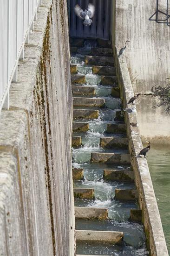
[[[158,9],[165,13],[166,2],[158,0]],[[162,95],[142,95],[137,101],[141,135],[152,143],[170,143],[170,97],[163,96],[170,91],[166,80],[170,77],[170,27],[149,20],[156,12],[156,0],[113,0],[113,3],[116,19],[113,41],[118,50],[126,40],[131,41],[126,48],[126,61],[134,92],[148,94],[156,85],[155,94]],[[152,19],[156,19],[156,14]],[[158,19],[166,16],[159,13]]]

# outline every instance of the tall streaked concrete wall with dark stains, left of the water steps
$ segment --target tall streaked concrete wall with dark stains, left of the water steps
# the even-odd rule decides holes
[[[66,0],[42,0],[0,115],[0,255],[73,256]]]

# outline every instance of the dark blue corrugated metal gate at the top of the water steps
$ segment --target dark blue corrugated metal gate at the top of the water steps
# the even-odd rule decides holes
[[[95,6],[95,14],[92,25],[86,27],[76,16],[74,7],[79,4],[85,10],[89,2]],[[111,3],[112,0],[70,0],[70,36],[110,39]]]

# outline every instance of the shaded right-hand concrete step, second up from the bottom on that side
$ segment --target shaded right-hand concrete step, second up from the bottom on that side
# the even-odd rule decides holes
[[[131,201],[138,198],[136,189],[115,189],[115,199],[122,201]]]

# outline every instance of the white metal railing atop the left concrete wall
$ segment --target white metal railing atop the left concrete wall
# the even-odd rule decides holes
[[[41,0],[0,1],[0,111],[9,107],[9,88],[17,82],[19,59],[37,18]]]

